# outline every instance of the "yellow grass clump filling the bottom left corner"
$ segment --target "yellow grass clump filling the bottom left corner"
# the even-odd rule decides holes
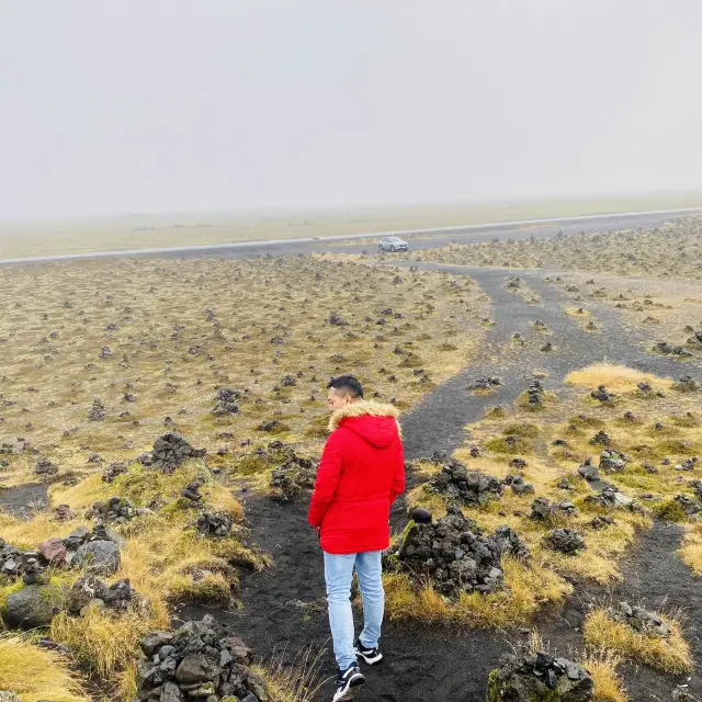
[[[22,702],[88,702],[67,659],[20,636],[0,636],[0,690],[12,690]]]

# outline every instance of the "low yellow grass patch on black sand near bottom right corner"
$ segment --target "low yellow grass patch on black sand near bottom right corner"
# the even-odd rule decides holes
[[[616,622],[607,610],[598,609],[585,621],[584,636],[588,646],[612,652],[665,672],[681,673],[693,669],[688,642],[682,636],[679,618],[664,616],[670,625],[670,636],[648,636]]]

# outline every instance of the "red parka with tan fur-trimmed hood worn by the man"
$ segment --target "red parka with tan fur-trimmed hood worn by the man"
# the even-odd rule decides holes
[[[389,510],[405,489],[397,409],[360,401],[331,416],[307,520],[331,554],[389,546]]]

